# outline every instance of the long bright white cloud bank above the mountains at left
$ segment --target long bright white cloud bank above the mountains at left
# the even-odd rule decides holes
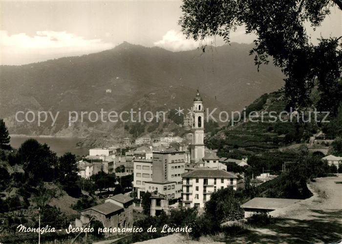
[[[101,39],[86,40],[65,31],[37,31],[36,35],[26,33],[9,35],[0,31],[1,64],[25,64],[59,58],[70,55],[81,55],[106,50],[113,47]]]

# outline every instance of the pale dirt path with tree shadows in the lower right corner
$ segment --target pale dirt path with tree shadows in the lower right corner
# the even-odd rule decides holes
[[[342,174],[317,178],[309,185],[314,196],[281,211],[273,211],[277,221],[265,228],[251,229],[227,243],[338,243],[342,240]],[[174,234],[139,244],[213,243],[203,237],[199,242]]]

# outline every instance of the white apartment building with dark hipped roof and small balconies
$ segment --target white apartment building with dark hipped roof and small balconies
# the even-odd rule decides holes
[[[203,208],[210,195],[220,189],[233,187],[237,177],[219,169],[195,169],[183,175],[183,206]]]

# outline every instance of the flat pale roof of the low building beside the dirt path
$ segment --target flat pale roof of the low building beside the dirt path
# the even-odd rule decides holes
[[[256,209],[272,209],[287,207],[300,199],[282,199],[282,198],[254,198],[241,205],[242,208],[256,208]]]

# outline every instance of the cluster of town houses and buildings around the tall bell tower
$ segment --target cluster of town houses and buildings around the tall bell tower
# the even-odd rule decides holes
[[[79,175],[88,178],[100,171],[110,174],[124,166],[125,172],[120,174],[133,174],[132,190],[137,198],[143,198],[147,192],[151,194],[151,216],[162,211],[169,213],[179,204],[202,210],[214,192],[228,187],[237,189],[238,177],[227,172],[227,163],[248,167],[248,159],[219,158],[215,152],[206,149],[204,108],[199,93],[193,99],[192,110],[192,117],[188,118],[192,128],[190,135],[181,138],[170,133],[155,141],[150,136],[143,136],[135,141],[137,147],[124,154],[115,146],[90,149],[89,155],[79,162]],[[123,144],[129,145],[128,139]],[[272,177],[266,174],[259,180],[266,181]],[[128,195],[111,196],[102,204],[80,211],[81,217],[76,220],[76,226],[85,226],[96,218],[107,228],[131,228],[132,211],[136,205],[133,201]],[[297,201],[253,199],[241,207],[250,215],[257,211],[274,211]]]

